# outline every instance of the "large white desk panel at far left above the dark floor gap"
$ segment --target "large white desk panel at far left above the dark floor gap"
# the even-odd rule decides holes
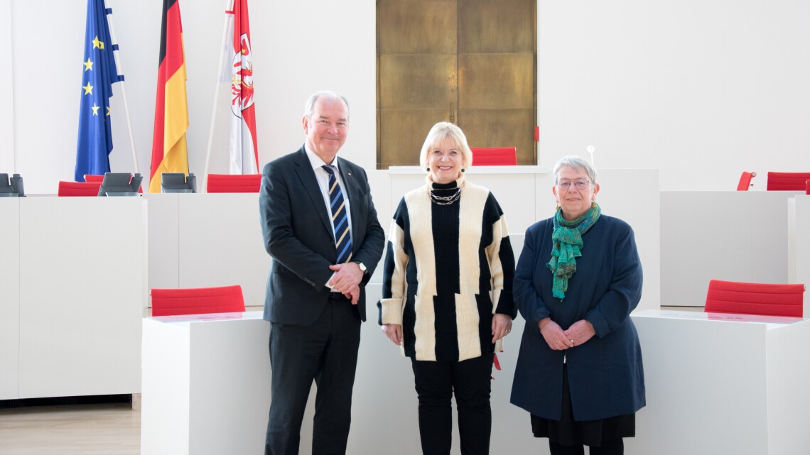
[[[139,393],[146,202],[25,198],[19,219],[19,398]]]

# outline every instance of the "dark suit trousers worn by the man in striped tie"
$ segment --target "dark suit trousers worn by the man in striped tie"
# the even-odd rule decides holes
[[[273,373],[266,455],[298,455],[301,421],[313,381],[318,393],[312,453],[346,453],[358,347],[360,316],[342,296],[331,298],[313,325],[271,323]]]

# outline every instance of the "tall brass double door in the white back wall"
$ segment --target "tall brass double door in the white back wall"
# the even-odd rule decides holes
[[[377,0],[377,167],[419,164],[452,121],[536,164],[536,0]]]

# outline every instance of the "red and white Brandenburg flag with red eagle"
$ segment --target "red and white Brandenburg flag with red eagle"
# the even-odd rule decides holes
[[[256,107],[254,106],[253,53],[250,51],[250,21],[247,0],[233,0],[226,11],[228,37],[223,79],[231,83],[231,165],[232,174],[258,173],[256,146]]]

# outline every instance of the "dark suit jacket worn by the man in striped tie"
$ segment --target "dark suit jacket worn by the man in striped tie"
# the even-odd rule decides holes
[[[365,321],[365,283],[382,257],[385,232],[377,221],[368,177],[360,166],[339,159],[343,195],[352,215],[352,261],[368,268],[360,283],[357,310]],[[335,264],[331,215],[326,213],[318,181],[304,147],[266,164],[259,193],[259,213],[267,253],[272,257],[264,302],[264,319],[309,325],[329,300],[326,282]]]

